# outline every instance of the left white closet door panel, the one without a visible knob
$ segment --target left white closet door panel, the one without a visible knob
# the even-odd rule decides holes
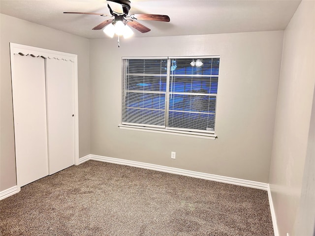
[[[20,186],[48,175],[45,59],[14,55],[15,154]]]

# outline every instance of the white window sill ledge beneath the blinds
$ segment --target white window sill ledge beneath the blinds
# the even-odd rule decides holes
[[[145,126],[119,124],[118,127],[120,129],[136,130],[136,131],[144,131],[144,132],[152,132],[152,133],[160,133],[160,134],[179,135],[179,136],[201,138],[201,139],[215,140],[216,138],[218,138],[216,134],[197,133],[197,132],[171,130],[171,129],[159,129],[159,128],[145,127]]]

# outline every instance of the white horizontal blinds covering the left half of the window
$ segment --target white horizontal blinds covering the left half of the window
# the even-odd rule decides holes
[[[167,63],[123,59],[123,124],[165,127]]]

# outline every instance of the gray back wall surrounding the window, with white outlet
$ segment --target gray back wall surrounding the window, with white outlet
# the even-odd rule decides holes
[[[267,183],[283,33],[90,40],[91,153]],[[199,55],[221,56],[217,140],[118,127],[122,57]]]

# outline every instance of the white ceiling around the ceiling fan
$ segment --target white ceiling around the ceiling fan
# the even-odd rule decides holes
[[[163,14],[170,22],[138,21],[135,37],[231,33],[285,29],[301,0],[131,0],[132,13]],[[0,0],[0,12],[86,38],[105,38],[92,30],[108,17],[63,14],[64,11],[109,15],[106,0]]]

